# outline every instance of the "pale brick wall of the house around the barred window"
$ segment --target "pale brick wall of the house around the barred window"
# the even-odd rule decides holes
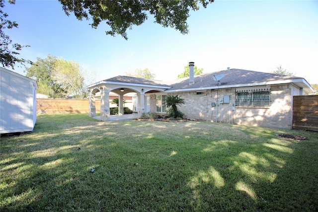
[[[257,86],[253,88],[257,88]],[[179,95],[185,100],[185,104],[181,105],[179,109],[186,115],[186,118],[218,123],[292,129],[292,96],[300,95],[300,89],[293,84],[274,85],[270,89],[270,106],[259,108],[236,107],[235,88],[198,90],[198,92],[206,91],[206,94],[199,95],[197,95],[197,91],[175,92],[167,95]],[[225,95],[230,96],[230,103],[220,102]],[[155,97],[153,99],[156,100]],[[211,102],[219,102],[219,104],[212,107]],[[151,108],[156,111],[156,101],[152,103]]]

